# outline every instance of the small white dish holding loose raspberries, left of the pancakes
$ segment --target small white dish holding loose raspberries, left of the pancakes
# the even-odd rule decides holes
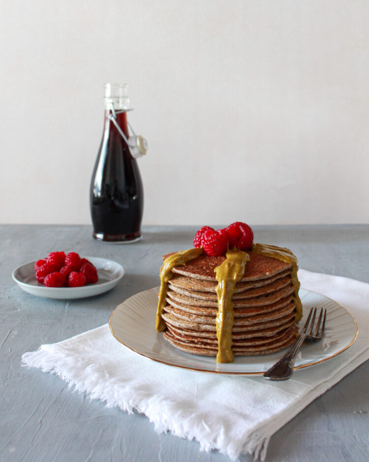
[[[119,263],[104,258],[86,257],[96,266],[98,281],[83,287],[46,287],[36,280],[34,263],[22,264],[13,271],[13,279],[18,286],[37,297],[72,299],[92,297],[113,289],[123,278],[124,268]]]

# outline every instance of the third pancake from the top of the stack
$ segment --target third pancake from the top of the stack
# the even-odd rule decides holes
[[[251,289],[244,290],[242,292],[237,292],[233,295],[232,300],[242,300],[245,298],[252,298],[252,297],[259,297],[261,295],[268,295],[276,292],[283,287],[291,286],[291,278],[290,276],[285,276],[277,281],[274,281],[270,284],[267,284],[262,287],[254,287]],[[177,294],[184,295],[190,298],[199,298],[200,300],[212,300],[215,301],[216,306],[218,303],[218,298],[216,294],[212,294],[210,292],[200,292],[200,291],[191,291],[188,289],[179,288],[177,286],[173,286],[171,281],[168,281],[168,287],[171,292],[177,292]],[[194,303],[196,300],[194,300]]]

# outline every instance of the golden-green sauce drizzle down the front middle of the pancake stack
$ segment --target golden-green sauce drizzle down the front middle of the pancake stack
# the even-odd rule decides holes
[[[246,263],[250,257],[243,250],[228,250],[226,259],[215,268],[215,278],[218,281],[216,295],[218,297],[218,312],[215,318],[216,337],[218,339],[217,363],[233,363],[232,328],[234,320],[234,303],[232,296],[236,291],[236,283],[245,273]]]

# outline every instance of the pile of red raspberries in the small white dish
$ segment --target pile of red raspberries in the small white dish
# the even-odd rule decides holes
[[[97,282],[97,269],[76,252],[51,252],[34,264],[36,279],[47,287],[82,287]]]

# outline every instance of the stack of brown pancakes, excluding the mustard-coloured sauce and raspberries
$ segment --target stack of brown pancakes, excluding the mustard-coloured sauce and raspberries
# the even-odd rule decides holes
[[[288,346],[298,331],[292,264],[247,253],[250,261],[232,297],[232,349],[235,356],[266,355]],[[195,355],[216,356],[218,301],[214,269],[224,260],[223,256],[201,255],[173,268],[162,318],[167,325],[164,337],[176,348]]]

